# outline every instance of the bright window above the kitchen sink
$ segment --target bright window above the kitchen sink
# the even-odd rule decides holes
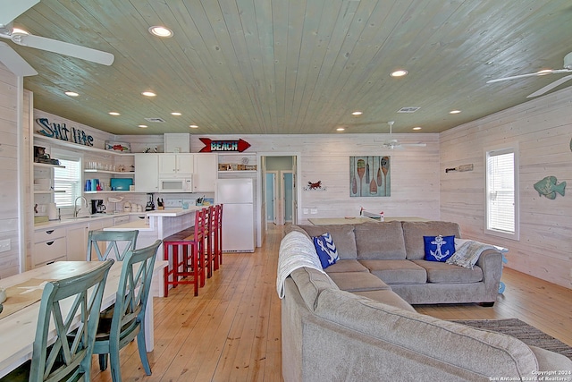
[[[73,208],[73,202],[81,196],[81,157],[73,157],[67,153],[52,150],[52,157],[60,160],[65,168],[54,169],[54,190],[65,191],[54,194],[57,208]]]

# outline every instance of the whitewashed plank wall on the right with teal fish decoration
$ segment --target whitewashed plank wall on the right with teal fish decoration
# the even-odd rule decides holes
[[[509,248],[507,267],[572,288],[571,139],[571,88],[442,132],[442,220],[458,222],[466,237]],[[519,148],[519,241],[484,233],[484,152],[510,142]],[[444,172],[470,163],[472,172]],[[566,196],[534,191],[548,175],[568,183]]]

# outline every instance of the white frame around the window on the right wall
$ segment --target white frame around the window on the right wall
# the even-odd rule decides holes
[[[501,229],[490,225],[492,214],[492,191],[490,181],[492,181],[489,168],[489,159],[491,157],[501,156],[505,154],[513,154],[513,217],[514,229],[512,231]],[[520,204],[519,204],[519,187],[518,187],[518,145],[517,143],[505,144],[501,147],[494,147],[484,150],[484,233],[494,236],[500,236],[506,239],[519,240],[520,239]],[[492,186],[494,187],[494,186]]]

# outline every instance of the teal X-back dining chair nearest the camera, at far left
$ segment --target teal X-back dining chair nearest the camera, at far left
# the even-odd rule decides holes
[[[32,360],[2,381],[88,381],[105,280],[113,259],[78,276],[48,282],[38,313]],[[61,303],[64,299],[71,299]],[[67,307],[70,307],[67,310]],[[77,318],[80,322],[77,322]],[[50,327],[52,322],[54,327]],[[55,343],[48,334],[55,330]],[[3,344],[9,346],[9,344]]]

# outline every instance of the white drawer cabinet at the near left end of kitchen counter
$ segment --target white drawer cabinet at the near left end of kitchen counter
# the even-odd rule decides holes
[[[65,228],[43,229],[34,232],[32,267],[42,267],[65,259]]]

